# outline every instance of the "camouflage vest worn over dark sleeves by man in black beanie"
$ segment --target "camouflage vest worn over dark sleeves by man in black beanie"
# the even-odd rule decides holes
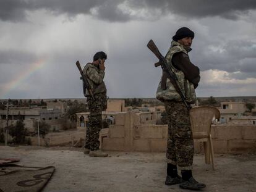
[[[173,72],[176,74],[179,86],[181,87],[182,92],[186,96],[187,103],[189,104],[195,103],[196,96],[195,96],[194,85],[185,78],[184,73],[181,70],[177,70],[175,67],[173,67],[173,64],[171,63],[171,59],[173,58],[176,52],[184,52],[185,54],[188,55],[188,51],[184,48],[184,46],[182,46],[182,44],[178,43],[177,41],[172,41],[171,47],[169,48],[165,56],[166,61],[168,62]],[[159,99],[160,101],[164,101],[164,100],[182,101],[181,96],[179,95],[179,93],[177,93],[176,89],[174,88],[169,78],[166,81],[166,90],[163,90],[161,86],[161,82],[162,80],[160,81],[158,85],[158,89],[156,91],[157,99]]]

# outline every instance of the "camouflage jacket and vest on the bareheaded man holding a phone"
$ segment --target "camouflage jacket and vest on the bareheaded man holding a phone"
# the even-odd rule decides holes
[[[92,88],[93,94],[106,93],[106,85],[103,81],[105,72],[103,70],[100,70],[95,65],[88,63],[83,68],[83,74],[85,74],[85,77]],[[88,90],[86,90],[85,96],[90,96]]]

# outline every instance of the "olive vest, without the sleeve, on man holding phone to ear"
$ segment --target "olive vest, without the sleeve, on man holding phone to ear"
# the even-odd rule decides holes
[[[105,85],[104,81],[102,81],[100,84],[96,84],[92,80],[90,80],[90,78],[88,78],[88,76],[87,76],[87,69],[89,67],[92,67],[98,73],[100,72],[100,69],[98,69],[98,67],[96,67],[95,65],[90,64],[90,63],[85,65],[85,67],[83,68],[83,74],[85,74],[85,77],[87,78],[88,83],[90,84],[90,87],[92,88],[93,94],[106,93],[106,85]],[[90,96],[90,94],[88,93],[88,90],[86,90],[85,96],[86,97]]]

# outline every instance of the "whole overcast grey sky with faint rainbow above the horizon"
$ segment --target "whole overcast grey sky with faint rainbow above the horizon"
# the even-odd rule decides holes
[[[83,98],[75,61],[108,54],[109,98],[154,98],[180,27],[195,32],[198,97],[256,96],[256,1],[0,0],[0,99]]]

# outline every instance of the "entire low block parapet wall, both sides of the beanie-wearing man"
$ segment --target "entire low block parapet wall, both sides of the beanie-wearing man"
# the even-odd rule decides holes
[[[109,127],[102,148],[113,151],[164,152],[168,125],[140,124],[133,112],[120,114],[117,125]],[[213,125],[211,129],[215,153],[256,151],[255,125]],[[203,152],[203,144],[195,142],[195,152]]]

